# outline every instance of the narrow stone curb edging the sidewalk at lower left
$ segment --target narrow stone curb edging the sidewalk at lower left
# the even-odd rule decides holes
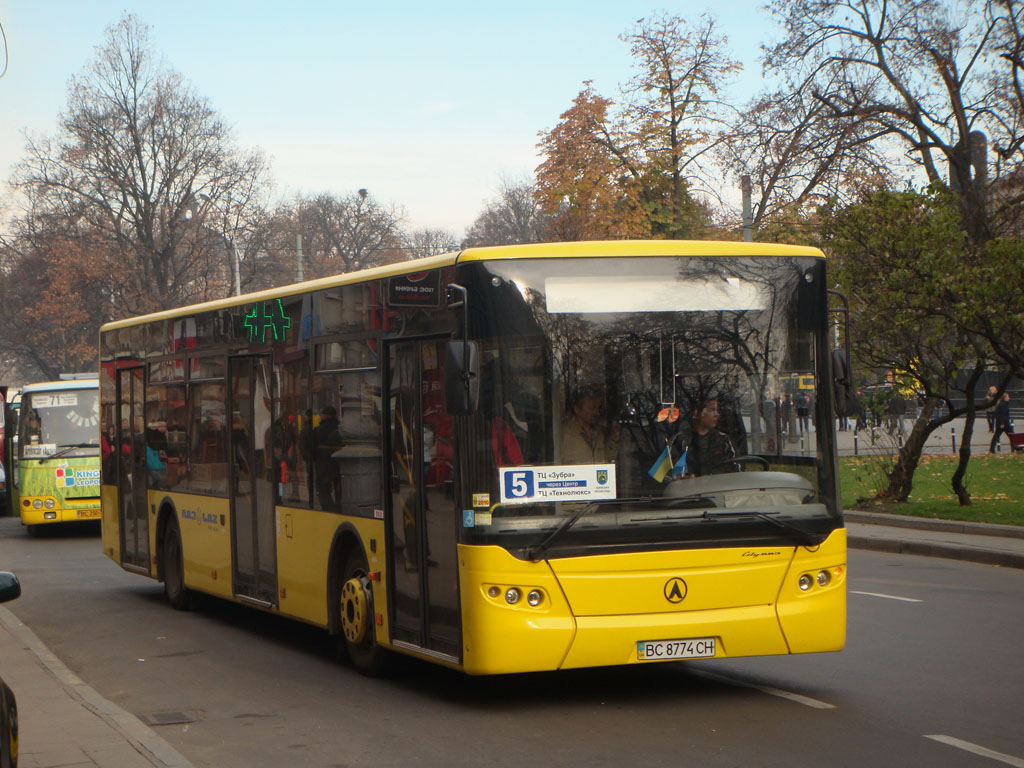
[[[92,712],[157,768],[195,768],[184,756],[161,738],[145,723],[99,693],[57,658],[42,640],[10,610],[0,606],[0,624],[31,652],[79,705]],[[24,715],[24,713],[23,713]]]

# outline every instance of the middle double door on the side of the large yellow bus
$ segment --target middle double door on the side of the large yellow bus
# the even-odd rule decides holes
[[[228,376],[234,595],[269,607],[278,604],[270,357],[230,357]]]

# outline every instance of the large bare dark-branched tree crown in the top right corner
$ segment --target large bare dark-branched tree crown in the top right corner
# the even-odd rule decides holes
[[[987,200],[985,134],[1002,174],[1022,153],[1018,0],[773,0],[784,38],[766,68],[816,102],[825,124],[858,124],[890,166],[904,156],[956,193],[974,243],[996,233],[1017,195]],[[979,12],[979,9],[981,12]]]

